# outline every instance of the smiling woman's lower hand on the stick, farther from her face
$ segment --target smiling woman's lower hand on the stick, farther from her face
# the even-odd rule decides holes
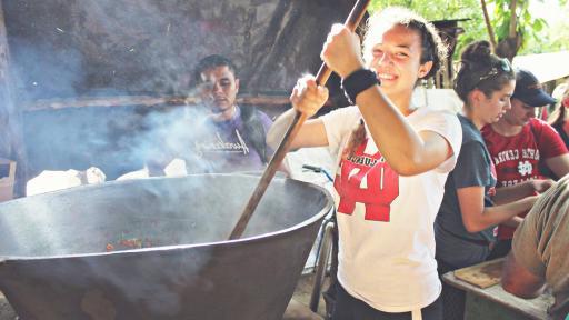
[[[328,89],[318,86],[312,74],[307,74],[298,79],[297,86],[295,86],[290,94],[292,108],[305,113],[308,118],[315,116],[327,100]]]

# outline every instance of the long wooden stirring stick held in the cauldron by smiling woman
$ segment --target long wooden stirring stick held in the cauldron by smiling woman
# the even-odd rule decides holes
[[[348,19],[346,19],[343,26],[346,26],[351,31],[355,31],[358,24],[360,23],[361,19],[363,18],[363,14],[366,13],[366,9],[368,8],[369,2],[370,0],[358,0],[358,2],[353,4],[353,8],[351,9],[350,14],[348,16]],[[316,82],[321,86],[326,84],[326,81],[328,81],[328,78],[330,77],[331,73],[332,70],[330,70],[330,68],[328,68],[328,66],[326,66],[326,63],[322,62],[322,66],[320,66],[320,69],[318,70],[318,73],[316,76]],[[231,234],[229,236],[229,240],[239,239],[241,234],[243,234],[244,229],[247,228],[247,223],[249,223],[249,220],[251,219],[254,209],[257,209],[259,201],[261,201],[261,198],[264,194],[264,191],[267,191],[267,187],[269,187],[269,183],[277,173],[279,164],[282,162],[282,159],[284,159],[284,156],[290,149],[292,140],[295,140],[295,137],[297,137],[300,127],[302,127],[306,120],[307,116],[305,113],[296,111],[292,123],[290,123],[290,127],[284,133],[284,137],[282,137],[282,140],[280,141],[280,144],[277,148],[277,150],[274,151],[271,161],[269,161],[267,169],[262,173],[261,180],[259,180],[259,184],[257,184],[253,194],[251,194],[251,198],[249,198],[249,202],[247,202],[247,206],[241,212],[239,221],[237,221],[233,231],[231,231]]]

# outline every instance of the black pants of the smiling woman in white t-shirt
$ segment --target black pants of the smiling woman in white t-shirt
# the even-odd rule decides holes
[[[401,283],[405,286],[405,283]],[[440,298],[421,309],[423,320],[441,320]],[[390,313],[373,309],[366,302],[353,298],[338,283],[336,308],[332,320],[412,320],[411,312]]]

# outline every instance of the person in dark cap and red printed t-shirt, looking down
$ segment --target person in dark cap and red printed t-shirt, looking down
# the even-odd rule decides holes
[[[496,166],[497,187],[517,186],[520,197],[535,193],[535,181],[569,173],[569,151],[557,131],[536,118],[536,108],[555,103],[539,80],[528,70],[516,72],[511,109],[503,117],[482,128],[482,137]],[[550,171],[550,172],[548,172]],[[498,228],[498,243],[490,259],[503,257],[511,248],[516,217]]]

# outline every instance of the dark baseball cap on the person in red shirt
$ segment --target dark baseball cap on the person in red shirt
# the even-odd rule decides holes
[[[556,99],[543,91],[538,78],[523,69],[516,69],[516,89],[511,98],[521,100],[521,102],[531,107],[556,103]]]

